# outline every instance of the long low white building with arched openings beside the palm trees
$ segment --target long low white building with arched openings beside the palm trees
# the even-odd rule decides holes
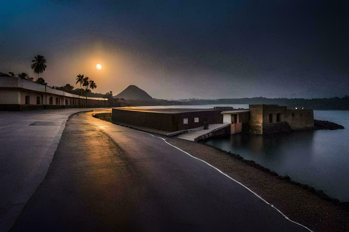
[[[87,97],[90,107],[105,107],[106,98]],[[18,77],[0,77],[0,110],[36,110],[84,107],[86,97],[51,89]]]

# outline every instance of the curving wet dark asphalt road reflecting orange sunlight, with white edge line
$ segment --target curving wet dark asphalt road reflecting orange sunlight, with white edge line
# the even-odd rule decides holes
[[[24,230],[307,231],[163,139],[91,112],[67,121],[44,181],[12,228]]]

